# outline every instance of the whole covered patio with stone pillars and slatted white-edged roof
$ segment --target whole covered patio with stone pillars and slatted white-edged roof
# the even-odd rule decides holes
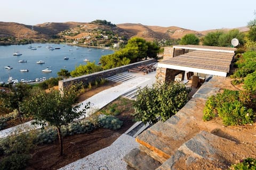
[[[192,79],[197,87],[205,75],[227,77],[236,48],[199,45],[166,47],[164,58],[158,62],[158,81],[183,81]]]

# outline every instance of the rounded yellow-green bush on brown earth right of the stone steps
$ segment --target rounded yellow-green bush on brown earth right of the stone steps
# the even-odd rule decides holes
[[[225,89],[207,99],[204,107],[204,121],[219,115],[224,125],[243,125],[253,122],[255,113],[250,108],[253,102],[243,91]]]

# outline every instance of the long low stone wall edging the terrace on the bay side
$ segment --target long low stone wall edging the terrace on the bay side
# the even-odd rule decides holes
[[[126,72],[128,71],[128,69],[132,69],[134,67],[137,67],[139,65],[147,65],[147,64],[151,64],[157,62],[154,58],[151,58],[149,60],[144,60],[141,62],[137,62],[137,63],[132,63],[132,64],[128,64],[128,65],[124,65],[124,66],[120,66],[120,67],[116,67],[114,69],[109,69],[109,70],[105,70],[105,71],[100,71],[100,72],[96,72],[96,73],[92,73],[92,74],[86,74],[86,75],[82,75],[76,78],[69,78],[69,79],[65,79],[65,80],[60,80],[59,81],[59,90],[63,89],[63,87],[68,86],[71,83],[77,83],[77,82],[83,82],[83,83],[89,83],[89,82],[94,82],[97,79],[101,79],[101,78],[108,78],[111,77],[113,75],[122,73],[122,72]]]

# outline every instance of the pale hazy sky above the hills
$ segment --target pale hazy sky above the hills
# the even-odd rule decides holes
[[[244,27],[256,16],[255,0],[2,0],[0,21],[141,23],[202,31]]]

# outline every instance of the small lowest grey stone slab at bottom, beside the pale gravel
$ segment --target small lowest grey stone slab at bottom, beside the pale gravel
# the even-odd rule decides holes
[[[155,170],[161,163],[157,160],[148,156],[145,152],[140,151],[138,148],[134,148],[129,152],[129,154],[123,157],[123,160],[127,163],[127,169],[147,169],[147,170]]]

